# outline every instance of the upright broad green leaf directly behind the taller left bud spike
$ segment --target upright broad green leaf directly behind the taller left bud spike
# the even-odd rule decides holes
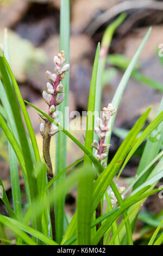
[[[70,63],[70,0],[60,1],[60,51],[65,51],[67,58],[66,63]],[[68,106],[68,92],[69,92],[69,80],[70,71],[66,72],[66,76],[62,81],[65,89],[65,100],[58,106],[58,110],[64,117],[64,127],[68,124],[68,115],[66,113],[66,107]],[[61,115],[59,116],[59,122]],[[64,133],[58,133],[56,139],[56,160],[55,160],[55,174],[59,174],[64,168],[66,168],[66,151],[67,151],[67,140]],[[65,180],[65,174],[62,174],[55,184],[55,193],[58,193],[62,182]],[[63,223],[64,223],[64,205],[65,205],[65,194],[62,194],[62,198],[55,200],[55,233],[57,242],[61,242],[63,235]]]

